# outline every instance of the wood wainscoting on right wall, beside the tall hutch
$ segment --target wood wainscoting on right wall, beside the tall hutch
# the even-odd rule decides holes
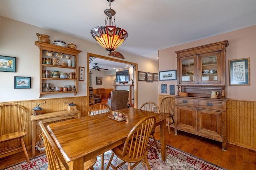
[[[159,95],[159,104],[167,96],[170,95]],[[228,100],[227,141],[256,150],[256,101]]]

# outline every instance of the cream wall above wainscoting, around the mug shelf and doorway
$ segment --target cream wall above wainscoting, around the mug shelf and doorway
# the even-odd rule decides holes
[[[17,72],[0,72],[0,102],[39,99],[40,53],[38,47],[34,45],[35,41],[38,41],[36,33],[49,35],[51,42],[58,39],[65,41],[67,44],[73,43],[77,45],[77,49],[82,51],[78,55],[78,66],[85,67],[85,75],[87,75],[87,53],[110,57],[108,56],[108,52],[99,44],[89,43],[76,37],[2,16],[0,16],[0,21],[0,55],[17,57]],[[138,63],[138,70],[158,72],[158,62],[127,54],[123,51],[119,52],[124,55],[125,61]],[[14,76],[31,77],[31,89],[14,89]],[[82,85],[87,86],[87,78],[85,78],[85,81],[78,81],[78,93],[76,96],[87,96],[87,90],[82,90]],[[142,89],[138,89],[138,106],[146,101],[158,102],[158,83],[138,82],[138,86],[142,86]],[[46,94],[42,95],[42,98],[73,96],[74,94],[72,93]]]

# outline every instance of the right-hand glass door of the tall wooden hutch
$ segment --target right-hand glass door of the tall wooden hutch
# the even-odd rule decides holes
[[[220,74],[218,72],[218,52],[198,55],[198,82],[199,83],[218,83]]]

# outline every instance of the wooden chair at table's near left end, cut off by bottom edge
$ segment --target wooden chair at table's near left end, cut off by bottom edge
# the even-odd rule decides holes
[[[50,132],[42,121],[39,122],[39,126],[42,130],[42,136],[44,139],[44,147],[46,151],[46,157],[48,160],[47,170],[69,170],[69,162],[66,162],[62,156],[57,144],[51,137]],[[84,170],[94,170],[93,166],[96,163],[97,158],[92,158],[87,162],[84,162]]]

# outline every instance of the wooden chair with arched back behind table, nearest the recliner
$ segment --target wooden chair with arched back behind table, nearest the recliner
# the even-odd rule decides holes
[[[91,115],[98,115],[102,113],[107,113],[109,111],[112,111],[112,109],[104,103],[97,103],[94,104],[88,111],[88,116]],[[104,167],[104,153],[101,154],[101,169],[103,170]]]

